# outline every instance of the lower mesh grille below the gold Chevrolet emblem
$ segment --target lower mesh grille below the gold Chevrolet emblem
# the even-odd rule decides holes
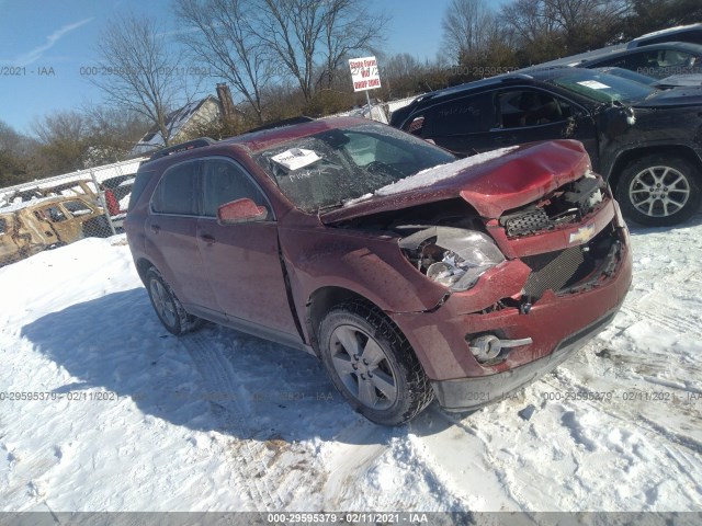
[[[561,290],[578,274],[585,263],[585,255],[580,247],[571,247],[557,252],[523,258],[532,273],[524,286],[524,295],[530,298],[541,298],[551,290]]]

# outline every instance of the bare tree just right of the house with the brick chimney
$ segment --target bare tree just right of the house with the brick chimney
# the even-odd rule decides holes
[[[180,41],[199,64],[226,80],[263,121],[262,90],[273,71],[265,46],[250,26],[251,3],[246,0],[178,0],[176,13],[182,24]]]

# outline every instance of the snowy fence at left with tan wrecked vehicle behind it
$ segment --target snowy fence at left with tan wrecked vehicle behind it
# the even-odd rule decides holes
[[[0,266],[82,238],[121,232],[144,160],[0,188]]]

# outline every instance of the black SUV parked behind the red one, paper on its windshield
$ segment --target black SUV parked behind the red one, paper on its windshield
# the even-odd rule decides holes
[[[435,91],[390,124],[460,155],[535,140],[580,140],[626,216],[675,225],[699,207],[702,89],[658,91],[580,68],[511,73]]]

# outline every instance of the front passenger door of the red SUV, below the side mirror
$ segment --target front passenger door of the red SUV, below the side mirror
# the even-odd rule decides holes
[[[204,159],[202,183],[197,244],[220,310],[235,322],[298,334],[281,265],[278,225],[263,192],[228,158]],[[219,225],[217,208],[245,197],[264,206],[268,215],[250,222]]]

